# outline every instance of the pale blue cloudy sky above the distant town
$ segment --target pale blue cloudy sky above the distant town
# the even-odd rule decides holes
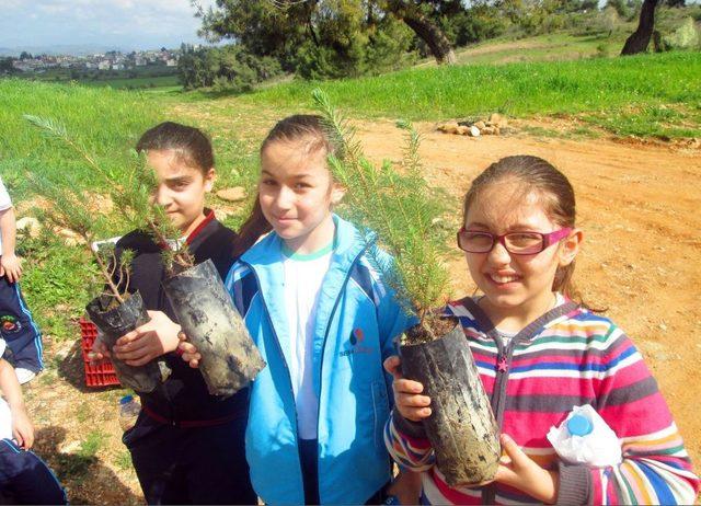
[[[189,0],[0,0],[0,48],[177,47],[203,42],[195,11]]]

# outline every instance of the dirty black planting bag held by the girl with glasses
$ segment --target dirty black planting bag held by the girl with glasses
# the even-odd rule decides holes
[[[423,424],[446,482],[493,480],[501,456],[498,428],[462,327],[428,343],[402,344],[400,355],[404,377],[421,382],[430,398],[432,414]]]

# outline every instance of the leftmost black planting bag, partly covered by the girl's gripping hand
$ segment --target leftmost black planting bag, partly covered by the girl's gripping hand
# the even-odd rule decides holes
[[[112,354],[112,364],[122,386],[137,392],[152,392],[171,373],[171,369],[165,363],[151,360],[145,366],[134,367],[119,360],[112,353],[112,348],[119,337],[150,320],[143,307],[141,295],[137,291],[118,307],[105,309],[112,300],[114,299],[106,296],[96,297],[88,303],[85,310],[90,320],[102,333],[101,338]]]

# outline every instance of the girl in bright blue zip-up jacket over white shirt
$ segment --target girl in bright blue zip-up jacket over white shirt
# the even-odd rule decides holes
[[[368,261],[371,238],[332,212],[344,194],[327,168],[333,151],[317,116],[271,130],[249,226],[257,216],[273,232],[226,280],[267,363],[252,386],[245,449],[268,504],[377,504],[391,479],[382,361],[411,321]],[[196,367],[196,348],[181,349]]]

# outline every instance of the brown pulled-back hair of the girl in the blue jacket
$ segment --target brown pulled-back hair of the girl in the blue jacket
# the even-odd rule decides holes
[[[261,153],[273,142],[297,142],[306,141],[304,149],[308,153],[313,153],[320,149],[324,149],[327,154],[335,154],[338,150],[334,142],[326,135],[321,116],[311,114],[295,114],[280,119],[268,131],[267,136],[261,143]],[[255,195],[255,202],[251,214],[239,230],[239,241],[235,246],[234,255],[243,254],[249,248],[255,244],[258,238],[273,229],[267,222],[261,209],[258,195]]]

